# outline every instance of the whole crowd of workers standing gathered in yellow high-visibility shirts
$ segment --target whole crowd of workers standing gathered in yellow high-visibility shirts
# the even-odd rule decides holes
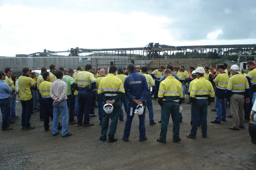
[[[179,124],[182,122],[182,107],[185,95],[188,94],[187,104],[191,105],[191,132],[188,138],[196,139],[197,127],[202,125],[202,137],[207,137],[208,105],[215,101],[216,118],[211,123],[226,121],[233,118],[231,130],[245,128],[249,120],[250,110],[256,99],[256,93],[250,88],[256,83],[256,69],[253,61],[248,61],[249,69],[246,75],[238,65],[232,65],[228,71],[226,63],[210,67],[191,66],[189,74],[184,65],[174,74],[172,65],[161,66],[148,74],[148,69],[129,63],[124,70],[122,67],[110,66],[95,70],[90,64],[85,70],[77,67],[59,68],[55,65],[41,68],[41,74],[24,67],[23,74],[18,79],[19,90],[16,89],[17,77],[12,76],[12,69],[7,67],[0,71],[0,107],[2,112],[2,130],[12,130],[10,124],[19,119],[15,114],[16,96],[22,105],[21,126],[23,130],[34,129],[30,125],[31,113],[39,111],[40,120],[44,122],[44,130],[49,130],[49,119],[52,120],[53,136],[71,136],[68,125],[78,127],[93,126],[90,116],[96,116],[94,107],[98,107],[101,125],[100,140],[115,142],[117,123],[126,122],[122,140],[128,141],[131,123],[134,115],[139,116],[139,141],[147,139],[145,132],[145,110],[148,108],[149,125],[155,125],[152,99],[161,106],[161,133],[157,142],[166,143],[167,126],[171,116],[173,121],[173,142],[179,142]],[[155,80],[154,80],[155,79]],[[185,93],[187,91],[187,93]],[[96,104],[97,101],[97,104]],[[38,104],[40,107],[38,107]],[[231,115],[226,115],[230,106]],[[69,116],[68,116],[69,113]],[[62,117],[62,125],[59,116]],[[74,119],[77,116],[77,121]],[[109,125],[109,119],[111,123]],[[108,130],[109,127],[109,130]]]

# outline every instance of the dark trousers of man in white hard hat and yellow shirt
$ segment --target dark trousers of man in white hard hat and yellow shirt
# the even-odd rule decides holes
[[[190,136],[196,137],[197,131],[197,120],[198,117],[201,117],[202,120],[202,135],[207,135],[207,108],[208,101],[207,99],[195,99],[193,105],[191,106],[191,122],[192,129]]]

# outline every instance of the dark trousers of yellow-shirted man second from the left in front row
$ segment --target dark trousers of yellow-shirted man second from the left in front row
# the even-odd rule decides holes
[[[30,100],[20,100],[22,106],[21,126],[30,127],[30,117],[33,110],[33,97]]]

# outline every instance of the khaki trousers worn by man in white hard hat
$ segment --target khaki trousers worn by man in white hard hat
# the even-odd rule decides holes
[[[242,94],[233,94],[230,97],[230,112],[233,117],[233,127],[245,126],[244,103],[245,96]]]

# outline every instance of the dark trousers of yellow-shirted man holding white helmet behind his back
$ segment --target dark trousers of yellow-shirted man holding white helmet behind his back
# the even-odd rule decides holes
[[[108,100],[112,100],[112,99],[108,99]],[[113,107],[114,107],[114,109],[113,109],[112,113],[107,114],[107,113],[105,113],[105,111],[103,112],[103,119],[102,119],[102,124],[101,124],[101,138],[106,139],[106,137],[107,137],[106,134],[108,131],[109,118],[111,119],[111,124],[109,126],[108,136],[114,137],[116,134],[118,116],[119,116],[119,111],[120,111],[120,101],[114,102]]]

